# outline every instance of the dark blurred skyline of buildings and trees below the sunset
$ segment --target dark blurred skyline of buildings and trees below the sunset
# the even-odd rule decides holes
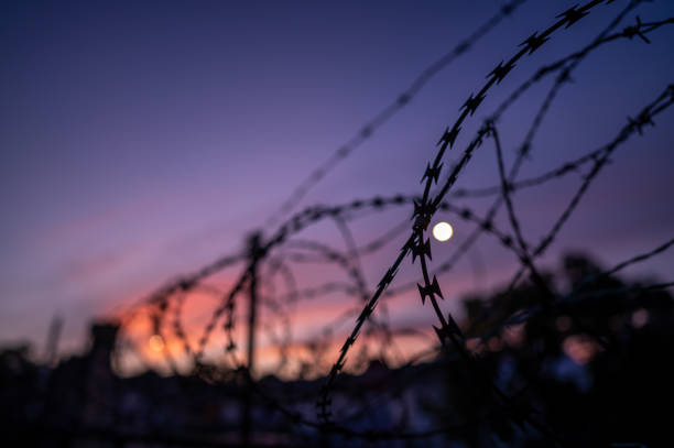
[[[550,307],[541,307],[533,284],[465,299],[461,326],[475,364],[448,350],[400,369],[372,360],[362,374],[340,376],[333,411],[349,430],[439,434],[320,435],[258,397],[249,446],[545,447],[551,435],[573,446],[671,446],[662,409],[674,403],[672,296],[599,273],[586,256],[567,256],[562,272],[545,278],[562,297],[575,293]],[[531,312],[525,323],[501,327],[522,310]],[[0,350],[2,446],[241,446],[242,380],[152,371],[120,378],[111,368],[118,331],[94,324],[88,351],[54,368],[31,361],[28,346]],[[268,376],[258,387],[315,420],[324,381]],[[511,402],[496,400],[485,381]]]

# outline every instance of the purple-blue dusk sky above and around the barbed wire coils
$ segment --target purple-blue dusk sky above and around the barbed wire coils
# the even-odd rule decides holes
[[[59,315],[64,349],[75,349],[89,319],[239,251],[252,230],[271,233],[268,218],[311,170],[502,4],[2,2],[0,341],[41,346]],[[524,3],[434,77],[301,207],[420,194],[435,142],[468,95],[533,31],[574,4]],[[475,131],[539,66],[583,47],[624,4],[600,6],[556,34],[492,90],[466,130]],[[645,3],[618,30],[637,14],[644,22],[674,17],[674,3]],[[609,44],[581,64],[543,122],[523,177],[607,143],[674,81],[674,26],[650,39],[650,45],[639,39]],[[508,160],[547,88],[536,86],[503,119]],[[609,266],[673,237],[673,118],[665,111],[655,128],[617,151],[544,263],[552,266],[564,250],[587,250]],[[477,154],[457,186],[493,185],[492,151]],[[518,195],[525,234],[543,234],[578,182]],[[472,203],[478,210],[487,204]],[[358,241],[401,216],[368,218],[355,227]],[[450,241],[468,231],[456,223]],[[313,234],[330,241],[337,233],[318,228]],[[437,253],[447,248],[437,245]],[[478,248],[448,280],[457,294],[502,283],[513,269],[512,255],[494,244]],[[393,252],[368,259],[371,283]],[[488,273],[483,284],[472,281],[476,265]],[[672,265],[674,256],[664,254],[629,273],[672,280]],[[314,319],[335,313],[322,306]]]

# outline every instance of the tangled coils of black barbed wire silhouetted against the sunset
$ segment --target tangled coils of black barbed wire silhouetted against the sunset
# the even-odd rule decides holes
[[[303,354],[303,357],[309,359],[309,361],[305,362],[309,367],[308,370],[300,369],[301,373],[298,375],[301,378],[324,376],[318,391],[312,394],[307,392],[306,395],[300,395],[294,400],[279,400],[274,396],[274,392],[265,391],[261,382],[251,383],[251,391],[259,398],[260,403],[264,403],[269,408],[283,415],[287,422],[311,428],[320,434],[345,437],[347,439],[381,441],[411,440],[436,436],[459,437],[467,430],[475,430],[479,425],[483,425],[486,420],[498,417],[509,420],[511,424],[522,428],[522,430],[535,431],[537,435],[545,437],[551,445],[567,445],[567,440],[564,439],[563,435],[557,434],[545,418],[540,413],[536,413],[531,403],[524,400],[523,390],[526,390],[529,385],[525,385],[515,393],[511,393],[498,384],[485,365],[480,363],[479,357],[475,354],[475,347],[471,348],[470,346],[470,341],[477,340],[480,345],[486,345],[491,338],[503,335],[509,328],[525,324],[534,318],[555,316],[561,313],[567,316],[579,331],[593,335],[593,329],[587,328],[583,319],[577,318],[581,316],[576,316],[575,313],[578,313],[578,310],[572,307],[573,304],[600,301],[617,294],[639,295],[644,292],[667,289],[674,286],[674,282],[659,282],[638,285],[620,284],[613,285],[615,287],[605,287],[600,282],[601,280],[611,278],[628,266],[663,253],[674,245],[674,240],[668,240],[643,254],[629,258],[607,271],[594,273],[581,278],[567,294],[558,294],[554,291],[550,286],[546,274],[536,264],[540,262],[540,258],[556,241],[561,230],[576,211],[578,204],[585,197],[595,178],[613,156],[616,149],[626,144],[635,133],[642,134],[649,127],[653,127],[655,124],[655,117],[668,110],[674,102],[674,85],[667,86],[653,101],[643,107],[634,118],[628,118],[628,123],[606,145],[586,152],[574,160],[565,161],[558,166],[541,174],[518,179],[522,164],[533,151],[534,138],[539,133],[545,117],[552,110],[562,87],[569,84],[570,75],[579,64],[596,50],[612,42],[637,37],[648,44],[653,39],[651,33],[664,25],[674,24],[674,19],[671,18],[642,22],[637,17],[635,24],[628,25],[620,32],[613,32],[641,2],[640,0],[629,1],[589,44],[552,64],[540,67],[523,84],[515,87],[506,97],[506,100],[482,122],[472,139],[466,144],[464,152],[458,155],[458,161],[450,165],[445,161],[447,152],[455,145],[458,146],[458,136],[465,123],[480,109],[487,95],[509,76],[520,61],[545,45],[557,31],[570,28],[589,14],[590,11],[594,11],[596,7],[602,3],[613,3],[613,1],[593,0],[583,6],[576,4],[557,15],[558,20],[552,25],[540,33],[534,32],[522,42],[520,50],[514,55],[509,59],[501,61],[487,75],[487,80],[477,90],[477,94],[469,95],[459,109],[458,119],[447,127],[442,134],[437,142],[439,149],[436,151],[434,159],[427,163],[423,174],[422,183],[424,186],[421,195],[376,196],[334,206],[320,205],[307,207],[285,219],[269,238],[262,240],[259,251],[254,254],[254,261],[249,253],[239,252],[222,256],[200,270],[177,277],[149,296],[143,297],[124,315],[124,321],[135,318],[141,314],[140,309],[146,310],[145,314],[151,316],[150,318],[153,323],[152,331],[164,340],[171,337],[181,341],[182,353],[180,356],[192,359],[194,372],[208,381],[232,381],[232,379],[240,378],[238,375],[241,374],[250,376],[249,365],[237,354],[239,343],[237,341],[236,325],[238,320],[238,304],[240,304],[241,299],[244,299],[243,296],[248,289],[254,287],[251,285],[257,284],[257,287],[261,291],[260,304],[271,315],[269,321],[260,325],[259,331],[264,331],[268,335],[269,343],[278,349],[279,359],[271,371],[282,372],[284,369],[286,371],[294,369],[295,367],[292,365],[290,359],[291,352],[296,347],[302,347],[306,349],[306,354]],[[306,192],[327,174],[333,164],[346,157],[356,147],[361,145],[376,129],[383,125],[398,110],[402,109],[437,72],[460,54],[469,51],[472,44],[521,3],[523,1],[508,3],[499,14],[491,18],[490,21],[478,29],[468,40],[460,43],[452,53],[426,68],[396,101],[366,124],[359,134],[350,139],[328,162],[319,165],[316,171],[309,174],[306,181],[300,184],[300,187],[282,204],[280,210],[270,220],[275,222],[287,215],[301,201]],[[517,146],[518,152],[514,161],[511,166],[507,167],[506,146],[504,142],[501,141],[502,136],[499,132],[501,124],[499,124],[499,120],[525,91],[551,74],[557,74],[557,76],[536,110],[522,144]],[[494,143],[494,159],[498,168],[494,178],[498,181],[493,185],[487,183],[488,186],[486,187],[470,189],[455,188],[459,176],[463,175],[474,154],[481,151],[485,143],[490,140]],[[328,167],[328,163],[330,167]],[[586,167],[588,172],[583,174],[581,171]],[[522,189],[541,187],[570,173],[580,173],[580,185],[551,229],[537,244],[532,244],[532,239],[525,234],[523,222],[518,215],[514,194]],[[441,174],[444,174],[442,178]],[[487,211],[482,214],[478,214],[475,208],[457,205],[446,199],[448,197],[469,199],[491,196],[496,196],[494,200],[487,208]],[[503,208],[506,209],[509,230],[503,230],[504,226],[500,226],[496,219],[501,206],[504,206]],[[359,243],[350,227],[352,220],[380,214],[384,210],[395,209],[401,209],[405,214],[411,215],[412,222],[406,217],[404,222],[392,226],[389,230],[365,243]],[[430,238],[426,238],[426,231],[432,219],[441,212],[452,214],[457,219],[475,226],[475,229],[463,238],[448,259],[437,260],[436,256],[436,266],[433,269],[431,242]],[[341,238],[343,249],[336,249],[336,247],[319,240],[300,238],[302,231],[312,226],[326,222],[333,223],[336,227]],[[506,252],[513,254],[518,263],[518,270],[510,278],[503,295],[514,294],[521,286],[521,280],[524,277],[524,274],[529,272],[533,286],[537,288],[536,302],[530,303],[526,306],[520,306],[515,313],[504,317],[499,316],[493,321],[486,317],[490,314],[493,315],[494,309],[485,306],[481,308],[481,315],[478,315],[475,321],[471,323],[474,324],[472,326],[461,327],[453,314],[445,313],[441,308],[439,301],[448,297],[448,289],[445,288],[443,291],[441,287],[441,281],[444,282],[441,274],[453,270],[482,234],[491,237],[496,244]],[[401,241],[402,244],[400,244]],[[374,286],[369,285],[365,272],[365,256],[379,253],[389,244],[399,244],[400,249],[396,255],[392,256],[393,261],[389,264],[385,273],[379,277],[378,284]],[[412,264],[418,266],[418,280],[393,285],[398,272],[407,259],[411,260]],[[416,263],[417,259],[418,263]],[[259,267],[258,263],[260,263]],[[295,273],[295,267],[306,263],[322,263],[322,269],[325,267],[326,271],[328,269],[336,269],[346,276],[346,280],[336,281],[335,276],[330,276],[330,280],[326,283],[305,287],[303,284],[304,278]],[[218,303],[205,323],[196,346],[193,346],[188,340],[188,335],[193,331],[191,328],[186,328],[184,323],[183,309],[185,304],[191,301],[191,294],[196,293],[200,287],[207,287],[204,283],[206,278],[213,277],[225,269],[235,266],[239,271],[233,281],[229,282],[227,286],[218,285],[217,288],[209,292],[210,295],[217,294]],[[259,271],[256,271],[257,269]],[[259,274],[256,272],[259,272]],[[441,277],[439,280],[438,276]],[[433,325],[432,328],[420,329],[415,326],[401,326],[391,321],[390,315],[387,313],[388,301],[383,301],[383,298],[389,299],[414,289],[416,289],[416,294],[421,297],[422,307],[425,306],[426,302],[431,304],[437,326]],[[320,324],[320,329],[315,335],[305,336],[301,341],[293,341],[291,330],[293,319],[296,318],[294,315],[297,304],[302,301],[327,299],[326,297],[329,294],[339,294],[340,298],[352,298],[355,304],[343,313],[333,316],[329,321],[326,319],[325,321],[317,323]],[[376,309],[377,313],[374,313]],[[347,328],[346,332],[343,331],[341,328],[349,319],[354,318],[356,319],[354,326],[350,329]],[[478,324],[487,325],[488,327],[478,330],[476,329]],[[172,336],[165,331],[164,326],[172,328]],[[220,364],[215,364],[207,359],[209,341],[217,329],[221,329],[225,335],[225,353],[220,353],[220,357],[227,362]],[[343,335],[345,335],[344,339]],[[398,341],[405,337],[431,337],[433,339],[430,339],[427,347],[418,350],[421,354],[410,356],[407,362],[404,362],[404,357],[399,356],[395,358],[395,356],[389,356],[388,353],[398,352],[400,354],[402,350],[398,347]],[[598,335],[597,339],[601,341],[601,336]],[[356,349],[357,340],[359,342],[366,341],[367,343],[361,343]],[[323,360],[326,358],[326,352],[333,349],[336,341],[343,341],[338,346],[339,352],[337,359],[324,365]],[[371,351],[376,347],[379,348],[378,358],[371,356]],[[421,343],[418,347],[421,347]],[[610,346],[607,346],[607,348],[610,349]],[[180,369],[175,361],[177,357],[170,350],[167,343],[164,345],[162,354],[165,357],[171,371],[178,374]],[[340,375],[345,371],[347,356],[349,356],[351,363],[356,360],[355,365],[360,367],[367,367],[371,359],[379,359],[384,364],[390,362],[391,364],[398,363],[398,365],[402,365],[401,369],[392,371],[393,373],[388,378],[388,384],[390,385],[387,391],[388,395],[382,395],[379,401],[376,401],[370,396],[349,391],[348,387],[339,389],[338,378],[341,378]],[[391,429],[356,429],[355,427],[358,427],[358,425],[354,425],[354,423],[361,422],[369,411],[383,406],[382,402],[385,403],[389,396],[398,396],[400,400],[399,395],[402,394],[402,390],[409,387],[410,384],[414,384],[415,381],[421,381],[421,373],[416,379],[405,376],[404,368],[414,365],[420,359],[424,359],[424,357],[435,359],[433,363],[428,363],[422,369],[424,372],[441,369],[442,362],[460,363],[467,368],[474,375],[475,381],[490,392],[490,402],[485,415],[472,419],[466,418],[465,422],[457,424],[441,425],[427,430],[411,430],[405,418],[405,414],[411,411],[405,407],[406,403],[401,401],[404,412],[392,424]],[[403,361],[402,363],[401,360]],[[296,363],[301,364],[302,361]],[[325,372],[322,371],[324,367],[329,369],[325,375]],[[525,380],[534,381],[533,379]],[[334,418],[337,406],[333,403],[337,394],[339,394],[344,403],[343,403],[343,408],[337,409],[341,413],[338,420]],[[303,408],[306,400],[313,401],[316,405],[317,415],[313,414],[313,418]],[[354,402],[358,403],[358,405],[348,405]]]

